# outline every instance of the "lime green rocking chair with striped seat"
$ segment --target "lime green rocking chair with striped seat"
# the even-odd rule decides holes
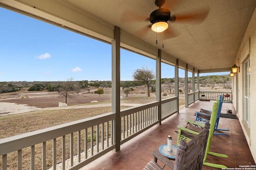
[[[206,162],[207,154],[228,158],[228,156],[225,154],[219,154],[219,153],[210,151],[210,147],[212,144],[213,132],[214,132],[214,125],[215,125],[215,120],[216,120],[216,115],[217,115],[217,109],[218,109],[218,100],[213,104],[213,107],[212,107],[212,114],[211,114],[211,118],[210,118],[209,137],[208,137],[208,141],[207,141],[206,152],[204,155],[203,164],[206,166],[211,166],[211,167],[215,167],[215,168],[227,168],[226,166],[221,165],[221,164],[213,164],[213,163]],[[200,123],[196,123],[194,121],[187,121],[187,122],[191,123],[193,125],[197,125],[198,127],[194,127],[194,129],[188,129],[186,127],[178,126],[179,131],[178,131],[178,140],[177,141],[179,141],[180,139],[183,139],[184,141],[191,141],[196,135],[198,135],[200,133],[200,131],[202,131]],[[177,142],[177,146],[178,146],[178,142]]]

